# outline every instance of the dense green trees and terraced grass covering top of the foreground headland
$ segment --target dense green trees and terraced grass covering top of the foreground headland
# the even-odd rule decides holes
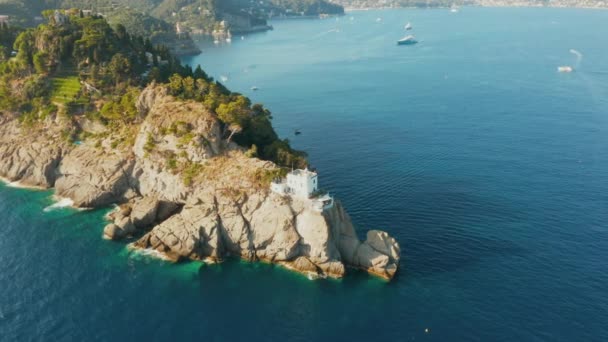
[[[155,82],[183,100],[198,101],[215,113],[224,138],[249,154],[280,165],[302,166],[302,152],[280,140],[271,113],[262,105],[228,91],[200,66],[182,66],[149,39],[112,28],[105,19],[78,10],[45,12],[48,24],[18,35],[2,26],[2,49],[14,56],[0,60],[0,113],[15,113],[26,126],[53,122],[65,126],[67,139],[86,139],[75,124],[86,117],[125,132],[113,147],[129,147],[143,120],[136,109],[141,89]]]

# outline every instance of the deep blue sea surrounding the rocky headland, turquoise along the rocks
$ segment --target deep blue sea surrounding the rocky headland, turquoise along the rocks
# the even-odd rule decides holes
[[[272,24],[185,62],[273,111],[361,235],[400,241],[398,277],[171,265],[0,185],[0,340],[608,340],[608,11]]]

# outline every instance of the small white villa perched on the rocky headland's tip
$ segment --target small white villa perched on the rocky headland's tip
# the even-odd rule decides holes
[[[270,184],[272,192],[282,196],[291,196],[308,201],[312,208],[322,212],[334,205],[334,199],[328,193],[319,191],[319,177],[316,172],[308,170],[293,170],[286,178],[275,179]]]

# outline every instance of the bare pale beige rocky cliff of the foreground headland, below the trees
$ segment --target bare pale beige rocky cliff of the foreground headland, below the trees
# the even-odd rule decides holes
[[[339,201],[318,212],[308,201],[269,192],[276,165],[222,139],[220,122],[202,104],[150,86],[138,110],[134,143],[122,149],[112,147],[111,131],[75,145],[64,142],[57,120],[26,128],[4,113],[0,176],[54,187],[78,207],[117,203],[104,236],[138,237],[135,248],[175,261],[236,256],[314,277],[342,277],[347,266],[386,279],[397,272],[400,248],[392,237],[374,230],[360,241]]]

